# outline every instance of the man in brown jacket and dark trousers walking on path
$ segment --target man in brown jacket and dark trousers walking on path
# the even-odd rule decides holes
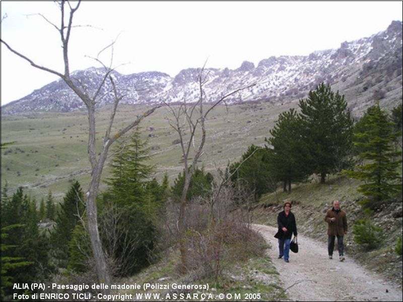
[[[326,212],[324,221],[327,222],[327,251],[329,259],[333,258],[334,239],[337,236],[339,260],[344,261],[343,237],[347,234],[348,225],[346,212],[340,209],[339,200],[334,200],[333,207]]]

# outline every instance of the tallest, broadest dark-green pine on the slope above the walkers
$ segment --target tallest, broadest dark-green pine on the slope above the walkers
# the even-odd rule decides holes
[[[299,107],[302,135],[311,159],[307,168],[320,174],[324,183],[327,174],[341,172],[349,164],[345,159],[351,152],[353,120],[344,96],[334,94],[323,83],[309,92],[308,99],[300,100]]]

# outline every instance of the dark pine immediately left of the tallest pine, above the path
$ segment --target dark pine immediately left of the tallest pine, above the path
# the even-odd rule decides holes
[[[271,145],[267,148],[268,170],[284,183],[284,191],[290,193],[292,182],[304,181],[310,174],[307,169],[309,153],[296,110],[281,113],[270,134],[272,136],[265,139]]]

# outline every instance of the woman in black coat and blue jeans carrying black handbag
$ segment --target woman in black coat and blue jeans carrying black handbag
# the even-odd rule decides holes
[[[290,242],[291,237],[297,237],[297,223],[295,216],[291,212],[291,202],[286,201],[283,206],[284,211],[281,211],[277,216],[279,231],[275,235],[279,239],[279,259],[284,256],[285,262],[290,262]]]

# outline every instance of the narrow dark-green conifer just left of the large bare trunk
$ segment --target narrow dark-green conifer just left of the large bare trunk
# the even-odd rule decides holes
[[[60,265],[66,265],[69,255],[69,242],[74,228],[81,223],[85,212],[84,193],[78,181],[73,183],[60,204],[60,211],[55,218],[56,226],[51,233],[50,240]],[[64,262],[64,265],[63,265]]]

